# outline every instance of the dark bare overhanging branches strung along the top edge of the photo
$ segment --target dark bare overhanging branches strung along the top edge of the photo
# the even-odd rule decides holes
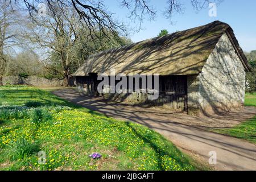
[[[41,2],[40,0],[23,0],[27,6],[28,11],[32,14],[33,11],[38,11],[36,9],[36,2]],[[51,2],[45,0],[46,2]],[[57,0],[65,6],[73,6],[76,12],[80,15],[81,20],[84,25],[91,31],[95,32],[95,27],[100,30],[108,29],[108,31],[118,31],[127,34],[127,28],[119,23],[113,18],[113,14],[106,9],[106,6],[102,1],[86,1],[86,0],[67,0],[61,1]],[[129,17],[132,20],[139,21],[138,31],[141,30],[141,25],[143,19],[154,20],[156,14],[158,13],[154,5],[150,0],[116,0],[118,3],[121,3],[123,8],[130,10]],[[187,0],[167,0],[166,9],[162,11],[164,16],[172,20],[172,17],[175,14],[184,13],[185,4]],[[209,3],[220,4],[224,0],[190,0],[192,7],[199,11],[208,7]],[[50,7],[51,8],[51,7]],[[102,31],[104,32],[104,31]]]

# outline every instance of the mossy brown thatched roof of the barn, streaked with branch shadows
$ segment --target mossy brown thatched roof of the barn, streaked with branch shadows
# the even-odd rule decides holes
[[[232,28],[222,22],[175,32],[160,38],[144,40],[129,46],[111,49],[89,56],[74,76],[89,73],[115,73],[159,75],[196,75],[218,40],[226,33],[240,57],[245,70],[250,71],[246,57],[234,36]]]

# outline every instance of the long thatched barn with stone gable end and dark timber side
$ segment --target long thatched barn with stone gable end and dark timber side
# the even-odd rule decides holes
[[[115,100],[167,107],[188,114],[242,107],[251,70],[232,28],[219,21],[92,55],[74,74],[80,92],[97,94],[97,74],[159,74],[159,98],[104,94]]]

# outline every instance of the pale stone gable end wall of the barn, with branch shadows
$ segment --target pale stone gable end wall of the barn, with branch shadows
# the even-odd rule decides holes
[[[189,114],[218,113],[242,107],[245,68],[226,34],[222,35],[200,75],[188,77]]]

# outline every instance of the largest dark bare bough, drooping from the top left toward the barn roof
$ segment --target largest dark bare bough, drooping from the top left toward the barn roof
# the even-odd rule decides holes
[[[113,17],[113,14],[108,11],[104,3],[101,1],[84,1],[84,0],[56,0],[56,1],[40,1],[40,0],[23,0],[28,12],[34,17],[33,14],[38,13],[38,5],[41,2],[47,4],[47,9],[53,13],[55,11],[54,3],[58,3],[62,8],[73,7],[74,13],[79,15],[79,20],[87,30],[90,31],[92,38],[97,35],[97,32],[105,34],[106,31],[122,32],[127,35],[127,27],[123,23],[119,23]]]

